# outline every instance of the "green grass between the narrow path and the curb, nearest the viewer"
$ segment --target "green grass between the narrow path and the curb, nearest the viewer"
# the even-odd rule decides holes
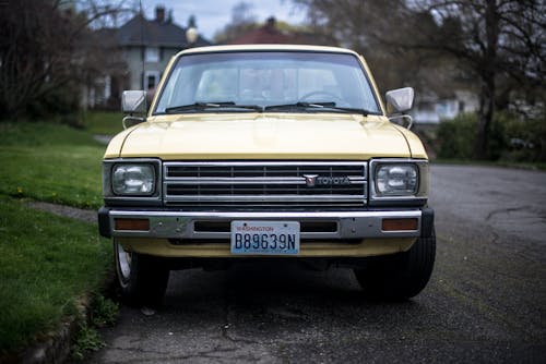
[[[0,354],[73,315],[78,298],[100,288],[111,254],[95,225],[0,195]]]

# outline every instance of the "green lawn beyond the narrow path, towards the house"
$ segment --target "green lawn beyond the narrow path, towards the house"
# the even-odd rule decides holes
[[[60,124],[0,124],[0,194],[75,207],[102,205],[106,146]]]

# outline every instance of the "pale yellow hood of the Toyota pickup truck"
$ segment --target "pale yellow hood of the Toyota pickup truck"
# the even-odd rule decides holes
[[[354,159],[411,157],[387,118],[332,113],[161,116],[118,135],[106,157]]]

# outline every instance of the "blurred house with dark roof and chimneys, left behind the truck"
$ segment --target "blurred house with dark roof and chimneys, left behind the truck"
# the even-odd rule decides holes
[[[164,7],[155,8],[153,20],[139,13],[119,28],[96,31],[108,61],[103,75],[87,89],[86,106],[119,108],[124,89],[155,89],[174,54],[211,45],[199,35],[191,39],[191,32],[176,24],[170,14],[166,16]]]

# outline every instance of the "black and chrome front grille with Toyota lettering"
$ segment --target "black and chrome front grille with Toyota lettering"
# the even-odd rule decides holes
[[[366,162],[165,162],[170,206],[364,206]]]

